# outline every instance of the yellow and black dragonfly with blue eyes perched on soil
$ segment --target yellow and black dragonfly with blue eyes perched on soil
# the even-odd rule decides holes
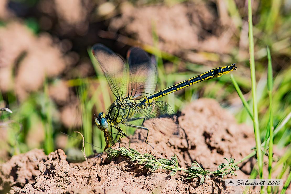
[[[95,118],[98,129],[104,132],[104,150],[114,143],[109,127],[111,131],[112,128],[118,131],[119,142],[125,136],[129,147],[129,134],[132,131],[147,130],[144,141],[148,143],[149,129],[143,126],[145,120],[153,120],[152,126],[164,135],[179,136],[178,119],[172,108],[166,102],[155,100],[195,83],[228,74],[237,68],[235,63],[218,67],[155,92],[158,79],[156,63],[143,49],[130,48],[126,61],[100,43],[93,45],[92,53],[116,97],[107,113],[101,112]]]

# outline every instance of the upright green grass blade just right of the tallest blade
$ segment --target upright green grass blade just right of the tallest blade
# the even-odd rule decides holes
[[[267,88],[269,92],[269,122],[268,130],[269,131],[269,179],[272,175],[272,163],[273,163],[273,113],[272,113],[272,89],[273,89],[273,71],[272,71],[272,59],[270,54],[270,49],[267,47],[267,56],[268,56],[268,76],[267,76]],[[267,192],[271,193],[271,186],[267,187]]]

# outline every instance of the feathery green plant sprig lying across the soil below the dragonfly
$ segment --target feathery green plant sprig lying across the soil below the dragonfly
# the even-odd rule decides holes
[[[187,169],[181,168],[178,164],[177,156],[171,156],[170,159],[156,159],[151,154],[141,154],[135,149],[127,149],[126,147],[119,147],[119,149],[109,149],[108,156],[109,157],[118,157],[119,155],[129,157],[131,162],[137,162],[138,164],[144,165],[145,168],[150,168],[151,172],[154,172],[158,169],[169,170],[170,176],[174,176],[178,171],[184,171],[187,174],[187,179],[192,179],[196,177],[200,177],[200,184],[203,184],[205,178],[210,176],[220,176],[223,177],[225,175],[236,175],[235,171],[239,170],[237,166],[238,163],[241,163],[243,160],[248,159],[251,155],[246,156],[244,159],[234,162],[235,159],[230,158],[226,159],[227,163],[222,163],[219,165],[218,169],[215,171],[204,170],[197,161],[193,161],[191,166]]]

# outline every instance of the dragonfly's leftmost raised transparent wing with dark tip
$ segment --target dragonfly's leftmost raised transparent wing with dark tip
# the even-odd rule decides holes
[[[105,74],[116,98],[127,94],[127,70],[123,59],[102,44],[95,44],[92,52]]]

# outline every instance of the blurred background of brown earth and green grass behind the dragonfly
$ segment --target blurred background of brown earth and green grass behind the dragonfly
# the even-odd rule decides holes
[[[274,125],[291,111],[291,1],[252,3],[263,139],[269,115],[267,45],[274,73]],[[105,112],[115,99],[91,55],[98,42],[124,58],[131,46],[155,56],[157,89],[237,63],[231,74],[250,99],[247,19],[247,1],[242,0],[1,0],[0,108],[13,113],[0,112],[0,162],[33,148],[46,153],[62,148],[68,158],[76,158],[80,140],[60,132],[81,138],[74,135],[80,131],[97,146],[86,145],[88,155],[103,150],[94,114]],[[162,100],[177,113],[201,97],[216,99],[238,122],[252,124],[229,74]],[[290,144],[290,126],[275,137],[279,147]]]

